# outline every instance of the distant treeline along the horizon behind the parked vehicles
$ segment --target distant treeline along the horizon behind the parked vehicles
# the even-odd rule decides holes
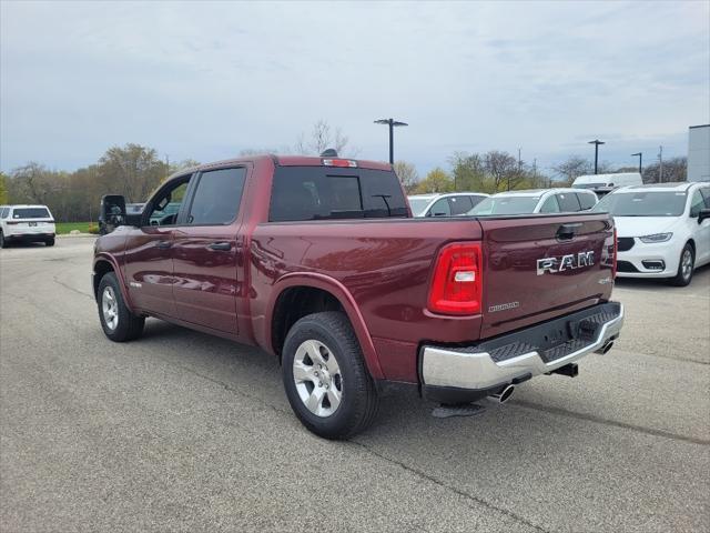
[[[325,131],[325,134],[324,134]],[[313,141],[301,140],[294,151],[320,153],[323,147],[345,149],[347,138],[339,130],[329,129],[325,121],[315,124]],[[306,138],[307,139],[307,138]],[[347,151],[347,150],[345,150]],[[262,150],[243,150],[251,155]],[[594,173],[592,163],[570,155],[549,169],[538,169],[508,152],[491,150],[486,153],[457,152],[448,160],[449,170],[436,168],[423,179],[416,168],[405,161],[395,163],[395,171],[408,193],[476,191],[494,193],[505,190],[568,185],[582,174]],[[113,147],[95,164],[73,172],[49,170],[29,162],[9,175],[0,173],[0,204],[41,203],[49,205],[61,222],[95,221],[99,201],[103,194],[123,194],[130,202],[144,202],[150,193],[171,173],[199,164],[186,160],[169,164],[154,149],[129,143]],[[687,160],[674,158],[663,161],[662,181],[686,181]],[[636,167],[613,168],[601,162],[599,172],[637,172]],[[643,169],[643,181],[659,181],[658,162]]]

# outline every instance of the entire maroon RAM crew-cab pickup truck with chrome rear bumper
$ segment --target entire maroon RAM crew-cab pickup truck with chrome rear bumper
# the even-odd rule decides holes
[[[605,213],[415,219],[392,167],[257,157],[171,177],[95,244],[104,333],[146,316],[261,346],[314,433],[345,439],[406,383],[445,404],[505,401],[606,353],[623,308]]]

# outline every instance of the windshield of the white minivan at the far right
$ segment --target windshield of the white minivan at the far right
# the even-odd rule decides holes
[[[617,192],[599,200],[592,211],[615,217],[680,217],[686,198],[684,192]]]

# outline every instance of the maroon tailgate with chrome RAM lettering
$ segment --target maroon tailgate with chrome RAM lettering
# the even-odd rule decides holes
[[[607,214],[479,218],[486,339],[606,301],[613,284]]]

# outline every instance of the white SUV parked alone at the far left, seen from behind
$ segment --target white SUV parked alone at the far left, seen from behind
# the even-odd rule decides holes
[[[11,242],[54,245],[54,218],[47,205],[0,205],[0,248]]]

